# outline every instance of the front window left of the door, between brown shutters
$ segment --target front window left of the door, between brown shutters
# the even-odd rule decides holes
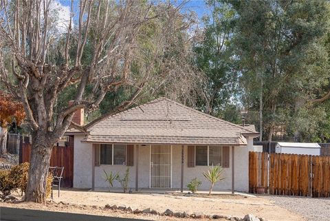
[[[126,165],[126,145],[100,145],[100,165]]]

